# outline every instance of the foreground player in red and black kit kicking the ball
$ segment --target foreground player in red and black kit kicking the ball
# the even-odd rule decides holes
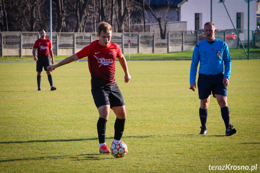
[[[99,137],[99,152],[110,153],[105,143],[106,122],[110,108],[116,114],[114,124],[114,141],[120,141],[124,132],[126,110],[124,98],[115,81],[115,60],[118,58],[127,83],[131,79],[128,72],[127,62],[117,44],[111,43],[112,27],[106,22],[100,22],[98,26],[99,40],[91,42],[78,53],[65,58],[55,65],[48,66],[50,71],[57,67],[88,57],[89,72],[91,74],[91,92],[99,111],[97,131]]]

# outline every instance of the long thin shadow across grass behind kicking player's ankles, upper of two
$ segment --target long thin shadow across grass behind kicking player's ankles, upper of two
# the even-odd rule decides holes
[[[152,136],[125,136],[124,138],[146,138]],[[113,137],[106,137],[106,139],[113,139]],[[86,139],[55,139],[55,140],[33,140],[33,141],[7,141],[0,142],[0,144],[23,144],[23,143],[34,143],[34,142],[73,142],[73,141],[89,141],[98,140],[97,137],[86,138]]]

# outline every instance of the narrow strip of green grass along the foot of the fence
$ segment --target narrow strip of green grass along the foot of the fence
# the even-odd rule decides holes
[[[246,49],[246,51],[248,51]],[[168,54],[131,54],[130,60],[157,60],[157,59],[191,59],[193,51],[184,52],[171,52]],[[260,55],[260,48],[250,48],[249,59],[258,59]],[[69,56],[69,55],[68,55]],[[54,56],[54,60],[63,60],[68,56]],[[129,59],[129,54],[124,54],[126,59]],[[243,48],[230,49],[231,59],[247,59]],[[86,59],[86,58],[85,58]],[[84,60],[85,60],[84,59]],[[0,57],[0,61],[33,61],[33,56],[23,56],[23,57]]]

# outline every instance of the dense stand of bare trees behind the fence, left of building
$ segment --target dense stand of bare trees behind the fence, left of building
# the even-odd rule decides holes
[[[56,32],[96,32],[96,22],[103,20],[111,24],[114,32],[124,32],[124,27],[130,32],[130,26],[140,23],[143,25],[131,27],[131,31],[146,32],[148,29],[146,27],[147,12],[151,11],[151,18],[148,20],[158,21],[161,38],[165,38],[168,20],[164,14],[169,7],[163,7],[162,12],[158,13],[154,12],[156,9],[154,6],[149,6],[146,2],[148,3],[148,0],[52,0],[53,30]],[[48,32],[50,28],[49,3],[50,0],[0,0],[0,31],[45,29]]]

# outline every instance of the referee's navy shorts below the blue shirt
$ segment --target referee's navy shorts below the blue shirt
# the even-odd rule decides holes
[[[224,74],[221,73],[219,75],[204,75],[199,74],[198,78],[198,91],[199,91],[199,99],[208,98],[208,96],[213,94],[224,95],[227,96],[227,87],[223,85]]]

